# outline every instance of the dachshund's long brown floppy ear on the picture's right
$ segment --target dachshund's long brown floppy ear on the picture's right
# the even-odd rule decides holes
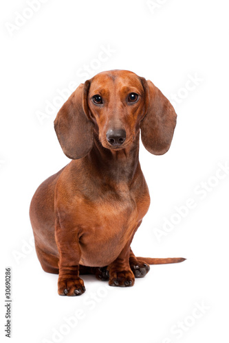
[[[151,154],[165,154],[173,139],[177,115],[171,103],[151,82],[141,78],[145,93],[145,115],[140,122],[142,143]]]

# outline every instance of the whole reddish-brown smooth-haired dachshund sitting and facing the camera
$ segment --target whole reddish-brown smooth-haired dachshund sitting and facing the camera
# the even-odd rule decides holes
[[[139,139],[151,154],[167,152],[175,110],[151,81],[131,71],[98,73],[59,110],[54,128],[72,161],[36,190],[30,220],[45,272],[58,274],[58,294],[85,292],[80,274],[129,287],[149,264],[183,258],[135,257],[131,241],[149,209]]]

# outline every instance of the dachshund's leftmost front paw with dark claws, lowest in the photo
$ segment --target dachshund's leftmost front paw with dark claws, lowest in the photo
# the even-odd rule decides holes
[[[60,296],[80,296],[85,292],[85,285],[80,278],[64,279],[59,276],[58,294]]]

